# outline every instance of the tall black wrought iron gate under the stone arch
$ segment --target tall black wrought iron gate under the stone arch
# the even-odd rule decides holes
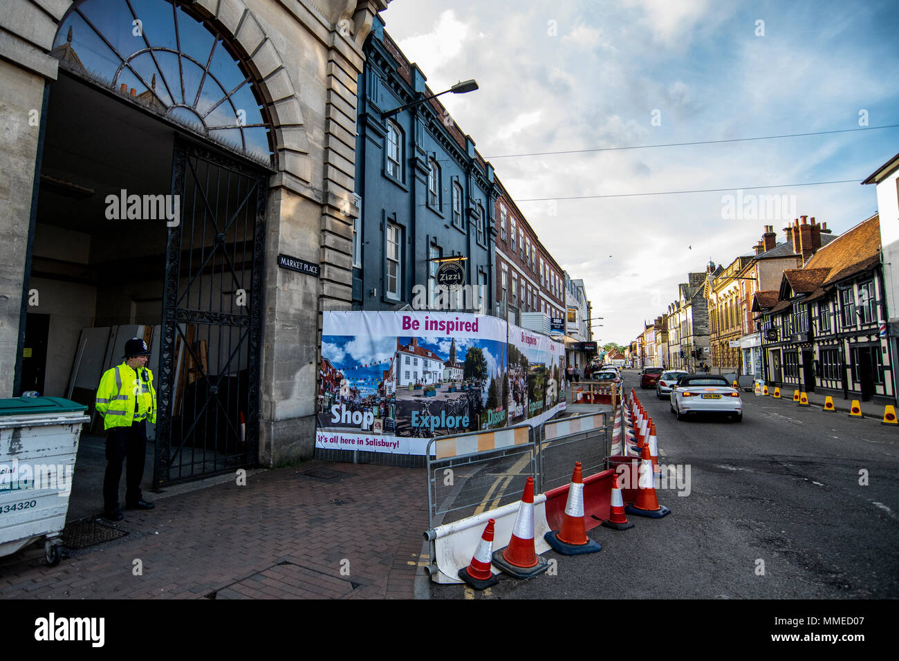
[[[256,460],[267,182],[252,166],[175,143],[180,222],[165,250],[155,485]]]

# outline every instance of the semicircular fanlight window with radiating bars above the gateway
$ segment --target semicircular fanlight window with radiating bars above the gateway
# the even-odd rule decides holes
[[[84,0],[53,46],[61,67],[271,164],[269,123],[251,76],[211,26],[172,0]]]

